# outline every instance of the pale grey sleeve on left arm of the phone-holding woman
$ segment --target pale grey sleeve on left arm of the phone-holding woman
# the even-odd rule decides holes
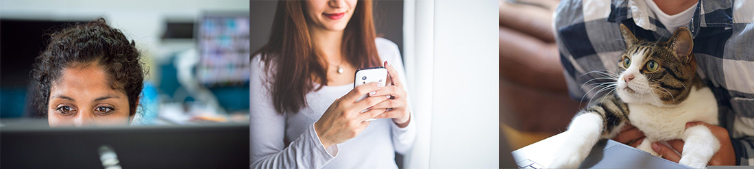
[[[336,158],[338,146],[325,148],[314,124],[285,145],[285,116],[277,114],[259,56],[250,77],[250,161],[253,168],[320,168]]]

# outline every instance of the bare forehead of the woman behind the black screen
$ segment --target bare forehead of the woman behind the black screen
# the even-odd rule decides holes
[[[109,74],[97,65],[63,68],[60,77],[51,86],[50,93],[51,95],[69,95],[69,97],[75,98],[125,95],[123,91],[113,89]]]

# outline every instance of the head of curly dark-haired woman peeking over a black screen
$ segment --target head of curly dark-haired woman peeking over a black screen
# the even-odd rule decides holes
[[[145,74],[135,45],[103,18],[51,34],[31,74],[36,116],[51,126],[130,124]]]

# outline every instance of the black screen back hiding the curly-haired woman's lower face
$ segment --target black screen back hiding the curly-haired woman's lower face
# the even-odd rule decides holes
[[[0,168],[248,168],[249,124],[49,128],[0,119]]]

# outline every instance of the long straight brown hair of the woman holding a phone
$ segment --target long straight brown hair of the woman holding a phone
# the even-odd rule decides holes
[[[276,70],[269,72],[273,74],[268,83],[275,110],[280,114],[297,113],[307,106],[308,92],[327,85],[327,62],[314,47],[308,25],[311,19],[305,14],[302,1],[277,2],[270,39],[255,53],[262,57],[266,71]],[[345,61],[359,68],[379,66],[375,38],[372,1],[359,1],[343,31]],[[315,86],[314,80],[321,85]]]

